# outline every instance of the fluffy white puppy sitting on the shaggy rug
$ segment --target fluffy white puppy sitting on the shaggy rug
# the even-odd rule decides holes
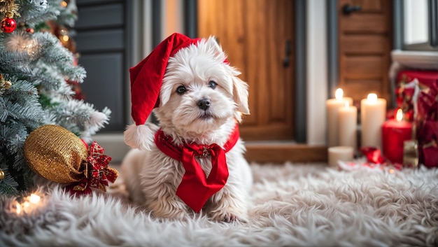
[[[121,174],[129,197],[157,217],[182,219],[202,208],[213,220],[246,220],[253,178],[243,157],[245,147],[238,136],[237,123],[241,122],[241,113],[249,114],[248,85],[236,77],[240,72],[229,65],[215,38],[191,40],[182,34],[173,36],[172,41],[163,41],[167,46],[170,43],[179,47],[170,48],[173,50],[165,63],[162,84],[158,83],[160,91],[154,113],[159,126],[143,125],[141,120],[125,131],[125,142],[137,148],[130,150],[122,162]],[[188,44],[174,41],[179,38],[188,40]],[[149,80],[150,76],[145,78]],[[133,90],[132,84],[133,99],[134,94],[141,92]],[[143,96],[139,97],[143,100]],[[134,100],[132,104],[136,104]],[[159,143],[162,139],[164,144]],[[178,160],[160,146],[177,153],[185,150],[185,155]],[[186,146],[201,147],[202,153],[190,151],[195,154],[188,157]],[[206,147],[220,147],[220,150]],[[221,150],[226,162],[221,161]],[[195,168],[185,167],[190,159]],[[225,168],[218,168],[220,162],[225,162]],[[225,178],[219,178],[225,180],[222,181],[225,185],[220,188],[211,185],[212,195],[202,194],[202,185],[200,188],[190,182],[183,185],[183,178],[190,181],[196,173],[199,175],[201,170],[189,174],[188,169],[196,170],[196,166],[203,171],[196,183],[210,183],[211,176],[225,173]],[[206,202],[202,199],[195,202],[200,197],[205,197]]]

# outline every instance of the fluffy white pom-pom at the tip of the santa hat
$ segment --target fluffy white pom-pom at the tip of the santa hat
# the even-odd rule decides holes
[[[153,123],[147,122],[144,125],[128,125],[123,137],[127,146],[131,148],[139,148],[140,150],[150,150],[150,146],[154,143],[155,132],[159,127]]]

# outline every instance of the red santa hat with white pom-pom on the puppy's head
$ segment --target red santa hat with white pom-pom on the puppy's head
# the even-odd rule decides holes
[[[149,149],[145,141],[151,141],[148,139],[153,137],[150,137],[152,133],[144,124],[153,109],[160,105],[160,89],[169,57],[173,57],[182,48],[196,45],[198,41],[199,38],[189,38],[178,33],[171,34],[157,45],[148,57],[129,69],[131,115],[135,125],[129,126],[125,131],[125,143],[128,146]]]

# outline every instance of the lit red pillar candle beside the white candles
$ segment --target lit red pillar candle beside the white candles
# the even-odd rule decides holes
[[[393,163],[403,164],[403,142],[411,139],[412,124],[403,120],[402,109],[398,109],[395,119],[382,126],[383,156]]]

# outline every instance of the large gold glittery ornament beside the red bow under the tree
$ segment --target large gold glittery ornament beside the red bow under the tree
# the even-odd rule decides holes
[[[78,136],[58,125],[35,129],[24,142],[29,167],[57,183],[78,182],[87,176],[88,151]]]

